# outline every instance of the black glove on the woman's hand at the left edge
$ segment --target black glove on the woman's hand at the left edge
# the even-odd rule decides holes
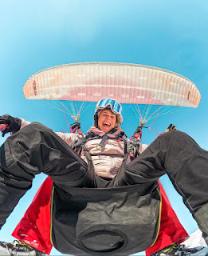
[[[15,134],[22,125],[22,121],[20,118],[13,118],[9,114],[4,114],[0,116],[0,124],[7,124],[5,130],[2,130],[2,137],[4,137],[7,133]]]

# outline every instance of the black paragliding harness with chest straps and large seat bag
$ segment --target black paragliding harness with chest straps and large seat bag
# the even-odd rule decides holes
[[[113,130],[109,133],[113,133]],[[126,182],[121,184],[123,170],[132,147],[135,150],[136,141],[133,144],[129,142],[123,132],[116,138],[110,138],[109,133],[100,136],[89,132],[73,146],[73,150],[77,152],[84,150],[88,174],[92,175],[90,182],[94,181],[98,186],[69,186],[64,194],[59,186],[53,186],[51,238],[53,246],[62,254],[135,254],[147,250],[159,232],[161,198],[157,183],[128,186]],[[96,138],[100,138],[97,145],[100,152],[90,154],[86,142]],[[102,153],[108,138],[124,141],[124,154]],[[106,185],[105,182],[100,182],[101,178],[96,175],[92,162],[94,155],[123,158],[120,170],[112,182],[107,182]],[[99,182],[104,183],[104,186],[99,186]]]

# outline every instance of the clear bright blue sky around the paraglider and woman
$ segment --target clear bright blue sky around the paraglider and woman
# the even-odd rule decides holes
[[[193,81],[202,94],[196,109],[158,118],[163,132],[169,123],[186,131],[208,150],[208,2],[206,0],[20,0],[0,2],[1,114],[37,121],[53,130],[65,128],[61,112],[24,98],[22,87],[39,70],[73,62],[129,62],[175,71]],[[95,105],[80,118],[92,125]],[[130,137],[138,123],[124,106],[123,129]],[[90,120],[90,121],[89,121]],[[69,121],[70,122],[70,121]],[[73,122],[73,121],[72,121]],[[143,134],[150,144],[155,134]],[[4,142],[5,138],[0,138]],[[29,206],[45,175],[38,175],[0,231],[12,242],[14,227]],[[163,186],[180,221],[190,233],[197,226],[167,177]],[[59,254],[53,250],[52,254]]]

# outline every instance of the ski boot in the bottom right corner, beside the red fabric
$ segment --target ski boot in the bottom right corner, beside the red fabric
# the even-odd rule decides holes
[[[177,243],[157,251],[151,256],[208,256],[208,247],[198,246],[194,248],[186,248],[184,245]]]

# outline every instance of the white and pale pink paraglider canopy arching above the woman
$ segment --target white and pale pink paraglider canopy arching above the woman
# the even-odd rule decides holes
[[[33,74],[23,88],[29,99],[196,107],[201,96],[189,79],[168,70],[127,63],[85,62]]]

